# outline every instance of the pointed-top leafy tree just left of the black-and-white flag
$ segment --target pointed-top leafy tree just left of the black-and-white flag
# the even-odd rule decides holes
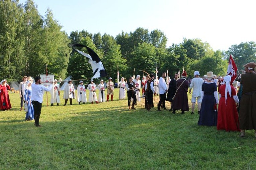
[[[43,72],[44,63],[48,63],[50,72],[65,77],[71,48],[68,45],[68,35],[61,28],[54,20],[52,11],[48,9],[42,31],[42,48],[33,63],[33,75]]]

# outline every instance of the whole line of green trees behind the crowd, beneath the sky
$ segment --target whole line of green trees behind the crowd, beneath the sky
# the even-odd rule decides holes
[[[101,58],[107,73],[116,79],[135,74],[139,70],[158,74],[169,72],[170,77],[184,69],[188,76],[198,70],[201,75],[213,71],[225,75],[229,55],[232,54],[238,69],[256,59],[253,41],[232,45],[228,51],[214,51],[200,39],[183,39],[167,47],[167,37],[161,30],[137,28],[134,32],[121,32],[116,37],[107,33],[92,34],[86,30],[72,31],[68,35],[47,9],[45,16],[37,11],[32,0],[19,4],[17,0],[0,1],[0,61],[2,79],[20,81],[22,75],[36,76],[48,70],[57,77],[73,76],[74,79],[93,76],[88,59],[75,51],[71,44],[80,43],[92,48]],[[86,49],[80,48],[86,52]],[[103,77],[107,80],[108,77]],[[96,80],[97,81],[97,80]]]

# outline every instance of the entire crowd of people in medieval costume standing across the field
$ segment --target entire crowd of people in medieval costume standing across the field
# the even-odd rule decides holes
[[[178,78],[178,73],[175,73],[173,79],[166,77],[166,72],[162,72],[159,79],[155,78],[155,75],[151,73],[143,76],[142,81],[140,80],[140,75],[137,75],[136,78],[129,77],[128,82],[122,77],[121,81],[118,82],[119,100],[124,100],[127,93],[129,110],[136,110],[137,102],[140,102],[141,98],[145,98],[145,109],[150,111],[154,107],[153,97],[159,96],[157,111],[161,111],[161,109],[167,110],[166,101],[168,101],[170,102],[169,111],[172,114],[176,114],[178,110],[181,110],[181,114],[184,114],[189,111],[189,92],[189,94],[192,93],[191,114],[194,114],[197,103],[198,125],[217,126],[218,130],[240,131],[241,137],[245,136],[245,130],[254,129],[256,138],[256,64],[250,62],[244,67],[245,73],[239,74],[234,81],[231,80],[230,75],[217,78],[211,71],[201,78],[197,70],[194,71],[194,78],[190,82],[186,79],[187,73],[185,70],[183,70],[181,78]],[[34,120],[35,126],[40,127],[39,119],[43,92],[50,91],[51,106],[54,106],[54,103],[59,106],[60,85],[56,79],[49,87],[41,85],[39,76],[35,77],[35,83],[32,80],[30,76],[23,76],[19,84],[20,110],[24,108],[26,112],[25,120]],[[110,99],[113,101],[113,88],[114,83],[111,77],[109,77],[106,86],[103,80],[100,80],[100,83],[96,86],[94,80],[91,79],[87,87],[87,90],[89,90],[88,102],[98,104],[99,102],[108,102]],[[105,89],[107,89],[107,99],[105,99]],[[10,90],[10,86],[4,79],[0,82],[1,110],[11,109],[7,90]],[[98,90],[98,95],[96,90]],[[75,91],[77,91],[77,94]],[[67,105],[68,100],[72,105],[73,99],[77,99],[79,105],[87,103],[86,88],[83,81],[80,80],[75,89],[72,80],[69,79],[67,85],[65,85],[63,99],[65,99],[64,106]]]

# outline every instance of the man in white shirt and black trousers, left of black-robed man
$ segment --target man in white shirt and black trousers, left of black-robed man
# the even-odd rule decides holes
[[[166,72],[162,72],[162,76],[159,78],[159,83],[158,83],[160,100],[157,105],[157,111],[161,111],[160,110],[161,104],[163,104],[163,108],[164,110],[166,110],[165,101],[166,101],[166,93],[168,92],[168,89],[166,87],[166,82],[164,80],[165,77],[166,77]]]

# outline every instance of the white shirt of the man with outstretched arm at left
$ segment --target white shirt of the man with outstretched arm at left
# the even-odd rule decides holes
[[[43,85],[32,83],[31,84],[31,88],[32,88],[31,101],[37,101],[39,103],[42,103],[43,92],[44,91],[49,92],[52,89],[52,87],[53,87],[53,84],[50,84],[50,86],[46,88]]]

